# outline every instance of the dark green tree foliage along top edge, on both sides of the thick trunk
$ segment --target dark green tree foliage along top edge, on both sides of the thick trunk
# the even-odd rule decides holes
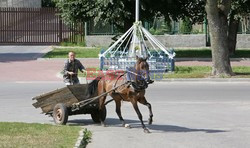
[[[46,0],[43,0],[46,1]],[[54,0],[67,22],[112,23],[118,28],[130,27],[135,20],[135,0]],[[221,0],[218,0],[221,1]],[[140,20],[153,21],[189,18],[193,24],[203,22],[206,0],[140,0]],[[232,0],[230,15],[240,17],[250,11],[250,0]]]

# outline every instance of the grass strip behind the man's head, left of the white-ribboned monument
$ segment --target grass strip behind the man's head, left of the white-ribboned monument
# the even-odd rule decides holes
[[[68,53],[74,51],[77,58],[98,58],[101,48],[54,48],[44,55],[44,58],[68,58]]]

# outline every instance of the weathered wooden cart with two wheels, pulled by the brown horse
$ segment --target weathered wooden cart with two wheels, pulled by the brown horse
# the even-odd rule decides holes
[[[34,97],[35,108],[41,108],[42,113],[51,115],[56,124],[66,124],[68,116],[77,114],[91,114],[94,122],[100,122],[106,118],[106,108],[99,112],[99,98],[97,91],[91,93],[88,84],[69,85],[61,89]],[[93,90],[92,90],[93,91]]]

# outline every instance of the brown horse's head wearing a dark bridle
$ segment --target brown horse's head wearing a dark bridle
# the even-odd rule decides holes
[[[144,79],[146,81],[150,80],[150,77],[149,77],[149,65],[147,63],[147,58],[144,59],[144,58],[139,58],[138,56],[136,56],[135,70],[136,70],[136,73],[139,76],[142,76],[139,79]]]

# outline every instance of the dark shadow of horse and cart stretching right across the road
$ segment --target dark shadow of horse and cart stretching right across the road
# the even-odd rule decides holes
[[[107,118],[106,120],[108,127],[121,127],[121,122],[119,119],[116,118]],[[147,122],[147,121],[144,121]],[[70,120],[68,121],[69,125],[72,126],[87,126],[87,125],[94,125],[94,126],[100,126],[99,123],[94,123],[91,119],[82,119],[82,120]],[[138,120],[126,120],[127,124],[130,124],[132,128],[139,128],[141,129],[140,121]],[[104,127],[105,128],[105,127]],[[123,127],[121,127],[123,128]],[[159,124],[153,124],[148,125],[148,128],[151,130],[151,132],[176,132],[176,133],[187,133],[187,132],[205,132],[205,133],[222,133],[222,132],[229,132],[226,130],[218,130],[218,129],[205,129],[205,128],[188,128],[188,127],[182,127],[182,126],[176,126],[176,125],[159,125]]]

